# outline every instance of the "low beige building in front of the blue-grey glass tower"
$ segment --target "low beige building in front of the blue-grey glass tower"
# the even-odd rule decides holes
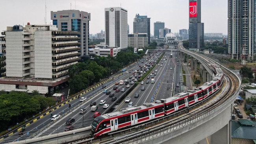
[[[147,33],[128,34],[128,46],[134,48],[145,48],[148,46]]]

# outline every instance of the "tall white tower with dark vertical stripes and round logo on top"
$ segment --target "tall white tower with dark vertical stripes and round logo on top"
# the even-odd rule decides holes
[[[128,48],[127,10],[105,8],[105,44],[111,48]]]

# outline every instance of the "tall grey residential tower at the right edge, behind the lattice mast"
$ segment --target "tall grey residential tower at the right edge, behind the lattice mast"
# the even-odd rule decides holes
[[[232,59],[252,60],[255,54],[255,0],[228,0],[228,54]]]

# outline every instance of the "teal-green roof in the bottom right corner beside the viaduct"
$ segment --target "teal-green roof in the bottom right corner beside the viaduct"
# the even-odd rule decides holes
[[[239,119],[237,121],[232,121],[231,126],[232,138],[256,139],[256,122]]]

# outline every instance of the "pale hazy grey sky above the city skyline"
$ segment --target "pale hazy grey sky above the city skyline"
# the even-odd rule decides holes
[[[104,30],[104,8],[123,7],[128,10],[130,33],[136,13],[151,18],[150,33],[154,35],[154,22],[165,22],[165,27],[177,33],[189,26],[189,0],[1,0],[0,31],[7,26],[50,24],[50,11],[77,9],[91,13],[90,30],[92,34]],[[201,22],[204,33],[227,34],[227,0],[201,0]]]

